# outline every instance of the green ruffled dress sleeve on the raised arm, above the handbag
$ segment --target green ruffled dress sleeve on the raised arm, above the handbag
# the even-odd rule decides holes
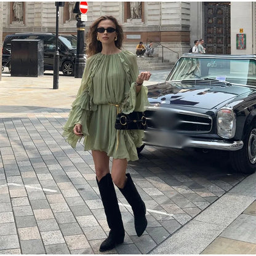
[[[142,85],[140,92],[137,94],[135,81],[138,76],[138,65],[134,54],[127,52],[126,60],[122,61],[124,70],[127,74],[127,79],[130,84],[130,89],[124,97],[124,102],[121,105],[121,112],[129,114],[132,111],[145,111],[148,102],[148,88]]]

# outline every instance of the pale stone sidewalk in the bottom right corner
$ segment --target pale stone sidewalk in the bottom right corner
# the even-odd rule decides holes
[[[255,182],[247,177],[151,254],[256,254]]]

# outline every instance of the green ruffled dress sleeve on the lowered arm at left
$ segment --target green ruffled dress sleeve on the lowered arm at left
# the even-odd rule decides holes
[[[92,78],[95,73],[95,67],[97,66],[97,60],[96,62],[92,61],[92,58],[94,58],[94,56],[89,58],[86,62],[81,86],[78,90],[76,99],[71,105],[68,121],[65,126],[63,126],[64,132],[62,136],[65,137],[66,142],[68,142],[73,148],[76,147],[76,143],[78,143],[82,137],[89,135],[88,127],[90,122],[90,111],[97,110],[97,106],[92,103]],[[94,65],[92,65],[92,63],[94,63]],[[73,132],[73,128],[76,124],[82,124],[83,136],[81,137],[75,135]]]

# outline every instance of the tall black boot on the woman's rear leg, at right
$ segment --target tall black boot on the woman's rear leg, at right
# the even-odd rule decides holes
[[[140,194],[138,194],[130,174],[126,174],[126,176],[126,185],[124,185],[124,188],[119,188],[119,190],[124,195],[127,202],[129,202],[130,206],[132,206],[132,210],[134,212],[135,231],[137,236],[141,236],[146,229],[146,225],[148,225],[146,220],[146,206],[142,201]]]

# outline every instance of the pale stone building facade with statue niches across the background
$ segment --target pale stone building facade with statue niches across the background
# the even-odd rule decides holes
[[[139,13],[132,14],[133,5],[138,3]],[[71,4],[65,2],[60,7],[60,34],[76,34]],[[15,5],[22,14],[15,13]],[[164,46],[156,47],[158,55],[175,62],[188,52],[194,39],[204,38],[206,49],[214,54],[255,54],[255,2],[108,1],[88,5],[86,33],[96,18],[113,15],[123,25],[124,48],[132,52],[139,41],[153,41],[155,47]],[[3,38],[17,32],[55,33],[55,2],[3,2],[3,10]],[[236,49],[241,31],[246,34],[246,49]]]

